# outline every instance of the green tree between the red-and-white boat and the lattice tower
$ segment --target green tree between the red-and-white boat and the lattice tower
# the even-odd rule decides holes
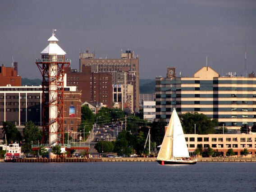
[[[23,151],[31,152],[31,145],[37,144],[42,139],[42,133],[39,131],[38,126],[36,126],[32,121],[25,123],[25,128],[23,129]]]

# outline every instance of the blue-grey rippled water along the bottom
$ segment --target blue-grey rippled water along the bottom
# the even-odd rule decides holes
[[[0,192],[256,191],[256,163],[0,163]]]

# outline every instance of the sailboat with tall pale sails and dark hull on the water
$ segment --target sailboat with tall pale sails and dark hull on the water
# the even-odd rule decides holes
[[[183,129],[174,109],[156,161],[161,165],[196,164],[188,154]]]

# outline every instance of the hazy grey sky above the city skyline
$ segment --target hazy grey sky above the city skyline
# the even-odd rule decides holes
[[[3,0],[0,64],[18,62],[22,78],[40,78],[35,64],[52,29],[79,69],[79,51],[96,58],[139,56],[140,79],[192,77],[207,65],[221,76],[256,72],[256,0]]]

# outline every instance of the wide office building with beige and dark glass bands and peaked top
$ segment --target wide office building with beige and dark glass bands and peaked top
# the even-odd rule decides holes
[[[176,108],[178,114],[206,114],[229,129],[240,129],[243,124],[251,127],[256,122],[254,77],[236,77],[233,73],[220,77],[210,67],[203,67],[193,77],[159,77],[155,83],[156,119],[168,122]]]

